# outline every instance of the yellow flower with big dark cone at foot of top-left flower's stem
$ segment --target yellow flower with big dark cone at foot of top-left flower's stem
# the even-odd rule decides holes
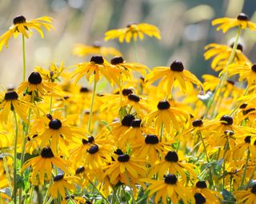
[[[41,74],[38,72],[33,72],[27,81],[22,82],[18,87],[18,93],[21,92],[36,92],[37,95],[44,95],[48,92],[53,92],[54,86],[56,84],[43,81]]]

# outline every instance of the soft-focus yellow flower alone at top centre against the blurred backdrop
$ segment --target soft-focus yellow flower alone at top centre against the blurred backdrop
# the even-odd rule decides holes
[[[111,29],[107,31],[105,33],[105,41],[118,38],[121,43],[124,40],[127,43],[130,43],[131,37],[133,37],[134,41],[137,41],[137,37],[139,37],[140,40],[143,40],[144,34],[161,39],[158,27],[146,23],[139,23],[130,24],[124,29]]]

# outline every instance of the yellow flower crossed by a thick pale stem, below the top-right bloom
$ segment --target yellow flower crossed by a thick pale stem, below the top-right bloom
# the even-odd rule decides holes
[[[205,49],[205,59],[209,60],[211,57],[214,57],[214,60],[211,62],[211,68],[218,72],[224,69],[228,64],[233,47],[211,43],[206,45]],[[242,53],[242,45],[238,44],[238,48],[235,50],[234,54],[234,64],[245,65],[249,61],[250,60]]]

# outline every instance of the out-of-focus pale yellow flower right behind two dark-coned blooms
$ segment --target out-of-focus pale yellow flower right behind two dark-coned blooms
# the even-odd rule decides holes
[[[78,56],[87,56],[87,55],[102,55],[106,56],[122,56],[117,49],[112,47],[102,47],[98,41],[94,42],[94,45],[82,45],[77,44],[73,49],[73,53]]]

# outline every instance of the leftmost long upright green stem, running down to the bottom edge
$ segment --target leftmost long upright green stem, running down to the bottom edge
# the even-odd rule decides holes
[[[18,120],[15,110],[14,112],[14,121],[15,121],[15,137],[14,137],[14,190],[13,190],[13,198],[14,204],[17,203],[17,144],[18,144]]]

